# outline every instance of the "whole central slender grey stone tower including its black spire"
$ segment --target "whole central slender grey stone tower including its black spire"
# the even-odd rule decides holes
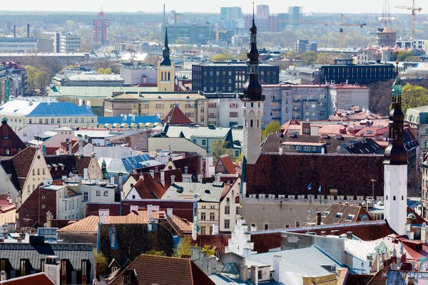
[[[250,49],[247,51],[247,81],[243,86],[240,99],[244,103],[244,138],[243,152],[248,164],[253,165],[260,156],[260,140],[262,138],[262,115],[265,95],[259,81],[259,60],[257,48],[257,27],[254,21],[250,27]]]

